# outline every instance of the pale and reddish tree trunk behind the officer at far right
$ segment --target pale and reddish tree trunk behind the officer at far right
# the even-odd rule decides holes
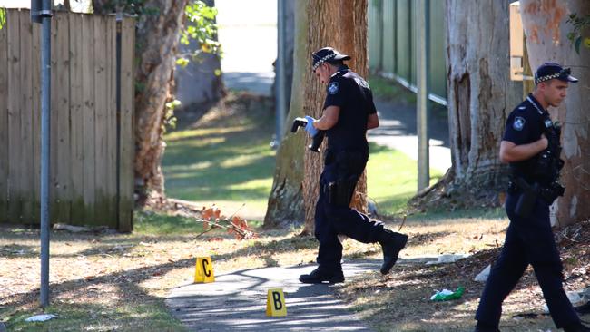
[[[526,34],[528,60],[536,70],[542,63],[556,62],[572,68],[572,74],[579,83],[569,83],[565,103],[557,109],[550,109],[551,117],[559,120],[562,127],[562,158],[565,167],[561,181],[565,195],[556,201],[552,218],[559,226],[590,218],[590,51],[584,46],[577,54],[567,40],[573,30],[566,23],[570,14],[590,15],[590,2],[586,0],[548,1],[523,0],[520,13]]]

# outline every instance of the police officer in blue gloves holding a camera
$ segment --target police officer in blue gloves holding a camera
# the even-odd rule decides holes
[[[379,242],[383,249],[381,273],[387,274],[408,236],[383,228],[383,223],[349,208],[355,186],[369,158],[367,130],[379,126],[369,84],[343,62],[350,56],[324,47],[312,54],[313,72],[327,84],[320,119],[307,116],[311,136],[324,131],[328,149],[320,176],[320,198],[315,211],[315,237],[320,241],[318,269],[300,276],[303,283],[337,283],[342,274],[342,245],[338,235],[364,243]]]

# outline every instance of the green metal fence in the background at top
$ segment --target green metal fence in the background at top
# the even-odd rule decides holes
[[[430,99],[447,104],[444,2],[430,5]],[[416,91],[416,3],[369,0],[369,68]]]

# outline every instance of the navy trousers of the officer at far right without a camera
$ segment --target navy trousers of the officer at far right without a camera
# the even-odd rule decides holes
[[[562,284],[563,266],[551,230],[549,206],[539,198],[531,216],[522,218],[515,213],[519,196],[519,193],[507,196],[506,213],[510,225],[506,241],[487,278],[476,319],[479,324],[497,327],[502,302],[531,264],[556,327],[579,323]]]

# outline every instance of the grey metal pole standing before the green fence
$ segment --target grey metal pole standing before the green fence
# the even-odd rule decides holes
[[[417,131],[418,131],[418,191],[428,188],[430,182],[428,162],[428,73],[429,73],[429,0],[417,3]]]

